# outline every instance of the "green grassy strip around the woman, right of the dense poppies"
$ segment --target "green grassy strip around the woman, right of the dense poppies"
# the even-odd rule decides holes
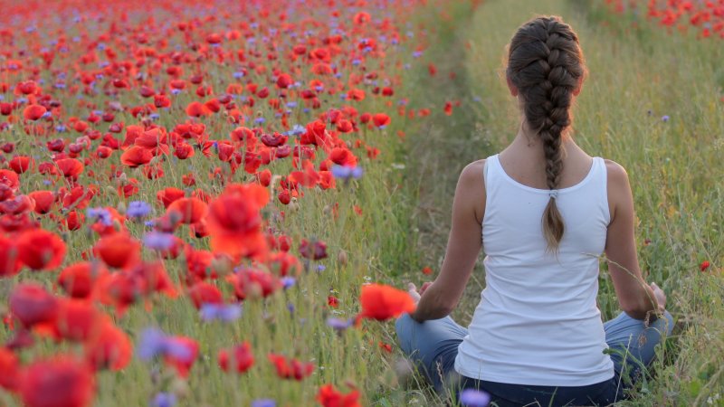
[[[600,2],[603,3],[603,2]],[[406,179],[416,196],[421,265],[439,270],[455,182],[467,163],[504,147],[518,112],[504,85],[502,55],[515,29],[535,14],[558,14],[581,38],[590,76],[576,108],[576,141],[595,156],[627,168],[638,215],[640,263],[669,296],[674,337],[632,405],[724,405],[724,47],[617,21],[598,2],[491,0],[470,18],[442,25],[448,54],[436,61],[456,78],[420,86],[462,102],[452,120],[411,135]],[[633,17],[632,17],[633,18]],[[462,23],[461,23],[462,22]],[[442,107],[441,107],[442,110]],[[442,114],[437,112],[436,114]],[[710,268],[701,271],[702,261]],[[602,262],[599,302],[605,318],[618,312]],[[409,270],[401,282],[427,276]],[[433,276],[430,276],[431,278]],[[467,323],[484,280],[476,268],[454,316]],[[717,395],[719,399],[717,400]],[[710,399],[711,398],[711,399]],[[719,404],[717,404],[719,403]]]

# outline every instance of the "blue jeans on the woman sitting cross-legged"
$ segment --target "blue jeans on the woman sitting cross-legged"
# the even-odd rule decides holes
[[[608,405],[624,398],[624,388],[633,384],[641,366],[653,360],[654,347],[662,336],[671,335],[672,315],[654,321],[649,327],[625,313],[605,322],[605,341],[614,362],[614,377],[602,383],[579,387],[534,386],[494,383],[462,376],[454,370],[455,356],[468,330],[451,317],[418,323],[405,314],[397,318],[395,329],[403,352],[422,371],[438,393],[446,386],[457,391],[477,388],[491,394],[498,406],[532,405]],[[536,404],[538,402],[538,404]]]

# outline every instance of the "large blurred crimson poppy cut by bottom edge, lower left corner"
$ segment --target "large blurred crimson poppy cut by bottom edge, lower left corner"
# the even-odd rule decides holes
[[[28,365],[18,393],[27,407],[86,407],[93,399],[93,380],[88,364],[60,355]]]

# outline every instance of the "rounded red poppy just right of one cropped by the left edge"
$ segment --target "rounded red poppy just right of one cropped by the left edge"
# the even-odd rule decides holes
[[[55,233],[31,229],[17,238],[19,258],[32,270],[52,270],[65,257],[65,242]]]

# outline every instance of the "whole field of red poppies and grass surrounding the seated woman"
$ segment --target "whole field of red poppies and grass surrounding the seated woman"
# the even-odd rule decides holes
[[[581,33],[576,141],[628,168],[677,319],[633,403],[724,405],[724,3],[511,2],[7,5],[0,406],[443,404],[387,321],[514,136],[500,57],[535,13]]]

